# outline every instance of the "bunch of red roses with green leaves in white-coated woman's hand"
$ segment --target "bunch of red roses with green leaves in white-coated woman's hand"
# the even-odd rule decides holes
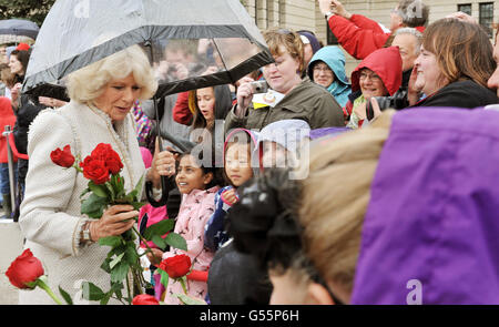
[[[53,163],[65,168],[74,167],[78,172],[89,180],[88,187],[80,195],[81,214],[90,218],[99,219],[102,217],[108,206],[116,204],[130,204],[134,210],[140,210],[145,203],[140,202],[142,194],[142,180],[130,192],[125,192],[125,181],[120,175],[123,168],[120,155],[112,149],[110,144],[100,143],[83,161],[75,157],[71,153],[70,145],[65,145],[62,150],[57,149],[51,152],[50,157]],[[144,236],[133,227],[131,231],[120,236],[109,236],[99,239],[100,245],[111,247],[106,259],[101,268],[111,275],[111,289],[103,292],[92,283],[83,283],[83,295],[89,300],[100,300],[106,304],[111,296],[115,295],[118,299],[122,299],[121,289],[123,280],[126,282],[129,303],[132,302],[133,294],[142,294],[142,289],[149,288],[150,284],[144,280],[143,268],[140,264],[140,257],[145,253],[139,254],[138,244],[135,244],[135,235],[145,244],[152,241],[156,245],[164,247],[166,244],[181,249],[187,249],[185,239],[175,234],[169,233],[165,239],[161,235],[166,234],[174,227],[174,221],[165,219],[154,224],[145,229]],[[147,251],[151,251],[147,248]],[[133,276],[133,286],[129,285],[126,278],[129,270]],[[131,290],[133,287],[133,292]]]

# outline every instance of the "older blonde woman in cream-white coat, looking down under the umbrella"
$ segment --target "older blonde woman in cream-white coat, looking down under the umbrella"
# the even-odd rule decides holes
[[[24,247],[43,263],[52,289],[61,286],[77,303],[79,280],[109,287],[110,276],[101,268],[109,248],[98,241],[132,228],[131,218],[139,212],[131,205],[114,205],[100,219],[89,219],[80,213],[80,194],[88,181],[75,170],[52,163],[50,153],[69,144],[74,155],[85,157],[99,143],[106,143],[120,155],[128,192],[144,174],[159,188],[161,175],[174,173],[173,155],[156,152],[146,171],[131,114],[134,102],[151,98],[156,88],[147,57],[133,45],[71,73],[71,101],[42,111],[30,127],[30,166],[19,218]],[[50,304],[50,298],[40,290],[21,290],[19,302]]]

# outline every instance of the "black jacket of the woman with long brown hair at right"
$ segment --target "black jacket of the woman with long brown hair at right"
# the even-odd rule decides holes
[[[492,91],[471,80],[448,84],[437,93],[419,101],[414,106],[455,106],[473,109],[498,103],[499,100]]]

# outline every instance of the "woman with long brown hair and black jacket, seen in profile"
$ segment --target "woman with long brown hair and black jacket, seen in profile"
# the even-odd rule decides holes
[[[454,18],[438,20],[422,35],[409,82],[409,104],[468,109],[495,104],[497,95],[487,89],[495,69],[492,44],[480,25]]]

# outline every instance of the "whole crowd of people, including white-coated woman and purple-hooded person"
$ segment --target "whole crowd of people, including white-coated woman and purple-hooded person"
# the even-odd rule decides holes
[[[172,40],[156,65],[139,45],[104,58],[69,75],[69,103],[20,94],[30,49],[9,53],[0,112],[29,157],[16,160],[19,224],[53,287],[108,287],[99,239],[139,216],[141,231],[174,219],[187,244],[147,245],[145,292],[166,304],[181,304],[183,287],[163,287],[154,270],[179,254],[193,262],[187,295],[213,305],[499,303],[499,39],[461,12],[429,23],[421,0],[400,0],[389,30],[317,1],[339,45],[271,28],[274,63],[159,99],[160,116],[159,81],[220,69],[213,52],[198,63],[205,42]],[[349,75],[344,51],[361,60]],[[166,134],[177,142],[160,151]],[[85,180],[48,154],[70,144],[84,157],[102,142],[120,154],[126,187],[145,174],[157,195],[166,178],[166,205],[82,216]],[[21,290],[20,303],[50,298]]]

